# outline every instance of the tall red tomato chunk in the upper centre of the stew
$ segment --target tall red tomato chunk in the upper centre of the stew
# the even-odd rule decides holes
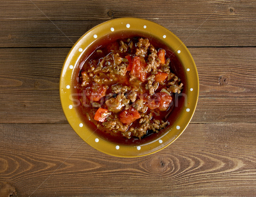
[[[131,74],[138,77],[142,82],[146,80],[147,73],[145,72],[145,60],[135,56],[132,60]]]

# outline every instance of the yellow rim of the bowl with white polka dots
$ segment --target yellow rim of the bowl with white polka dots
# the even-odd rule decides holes
[[[175,126],[177,125],[176,128],[169,128],[170,131],[166,132],[161,139],[156,139],[141,146],[119,146],[109,142],[108,140],[104,140],[99,136],[96,136],[94,131],[90,131],[90,129],[83,125],[81,117],[78,116],[75,107],[73,107],[73,100],[70,99],[70,95],[72,94],[70,86],[72,84],[73,71],[84,51],[86,51],[90,44],[92,44],[96,39],[99,39],[107,34],[111,34],[114,31],[124,31],[127,29],[129,31],[146,31],[147,33],[154,35],[154,37],[161,39],[164,43],[168,43],[175,55],[179,58],[182,66],[186,69],[185,73],[190,74],[186,75],[186,78],[188,79],[187,84],[189,84],[191,87],[189,89],[190,91],[188,91],[188,103],[190,104],[189,108],[183,109],[182,107],[182,113],[186,114],[186,119],[183,120],[183,124],[181,124],[179,118],[176,121],[177,123],[175,123]],[[79,38],[79,40],[77,40],[77,42],[70,49],[64,61],[60,76],[59,93],[61,106],[70,126],[87,144],[105,154],[116,157],[142,157],[166,148],[173,143],[186,129],[190,120],[192,119],[198,103],[199,77],[192,55],[175,34],[165,27],[160,26],[159,24],[150,20],[124,17],[101,23],[87,31]],[[171,131],[172,129],[176,135],[170,139],[167,134],[173,132]],[[154,147],[152,147],[153,143]]]

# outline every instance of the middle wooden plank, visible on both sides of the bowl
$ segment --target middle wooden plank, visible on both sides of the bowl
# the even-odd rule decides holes
[[[200,80],[192,122],[255,123],[256,48],[189,50]],[[68,51],[0,49],[0,123],[67,123],[59,100],[58,81]],[[228,77],[227,85],[220,85],[221,76]]]

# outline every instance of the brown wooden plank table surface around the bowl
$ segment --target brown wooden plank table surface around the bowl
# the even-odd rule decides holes
[[[61,108],[68,51],[117,17],[166,27],[198,69],[191,123],[145,157],[96,151]],[[256,196],[255,69],[255,0],[1,0],[0,196]]]

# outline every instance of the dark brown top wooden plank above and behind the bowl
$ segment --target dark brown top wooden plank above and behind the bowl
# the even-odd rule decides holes
[[[118,17],[159,23],[186,46],[256,46],[255,10],[254,0],[3,0],[0,46],[71,47],[93,26]]]

